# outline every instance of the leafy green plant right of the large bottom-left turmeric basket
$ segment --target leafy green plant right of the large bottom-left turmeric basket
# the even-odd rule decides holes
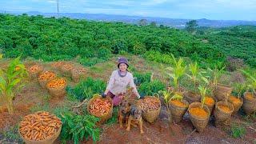
[[[99,140],[100,129],[96,127],[99,118],[90,114],[78,115],[68,110],[58,110],[58,118],[62,120],[60,138],[63,143],[72,140],[75,144],[84,139]]]

